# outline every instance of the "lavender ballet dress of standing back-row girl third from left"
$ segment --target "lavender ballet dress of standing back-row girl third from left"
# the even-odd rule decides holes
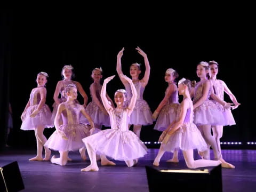
[[[96,86],[96,96],[102,104],[102,100],[101,100],[101,97],[100,97],[100,92],[101,92],[102,85],[93,83],[91,86]],[[92,98],[92,96],[91,96],[91,98]],[[109,116],[105,115],[103,113],[103,111],[100,109],[100,107],[94,101],[91,101],[86,106],[85,110],[90,115],[90,117],[92,118],[92,121],[94,122],[94,124],[110,126]],[[88,120],[83,115],[81,115],[80,122],[84,123],[84,124],[89,123]]]

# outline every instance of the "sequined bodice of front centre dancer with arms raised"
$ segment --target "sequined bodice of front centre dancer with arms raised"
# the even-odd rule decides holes
[[[117,110],[113,109],[110,111],[110,124],[111,129],[128,131],[129,117],[127,109]]]

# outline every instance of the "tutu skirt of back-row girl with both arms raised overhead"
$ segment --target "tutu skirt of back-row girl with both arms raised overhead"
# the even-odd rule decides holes
[[[127,104],[126,104],[127,105]],[[151,125],[153,124],[152,113],[145,100],[137,100],[130,116],[129,124],[132,125]]]

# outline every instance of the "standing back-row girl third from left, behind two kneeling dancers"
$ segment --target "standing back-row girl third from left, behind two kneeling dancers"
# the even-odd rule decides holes
[[[92,118],[95,128],[101,130],[102,125],[110,126],[109,115],[106,109],[104,108],[102,100],[100,98],[100,92],[102,87],[102,85],[100,84],[100,80],[102,78],[102,69],[101,68],[93,69],[91,77],[94,81],[90,86],[90,94],[91,94],[92,101],[87,105],[85,110]],[[108,97],[108,95],[106,95],[106,97],[114,107],[113,101]],[[84,116],[81,116],[80,121],[81,123],[85,123],[85,124],[87,123],[87,119],[84,118]]]

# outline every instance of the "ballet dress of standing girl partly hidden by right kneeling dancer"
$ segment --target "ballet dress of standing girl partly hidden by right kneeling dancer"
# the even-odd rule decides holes
[[[165,91],[165,94],[167,89]],[[154,126],[154,130],[164,131],[175,119],[177,115],[177,110],[179,107],[179,97],[178,90],[173,91],[170,95],[167,103],[161,109],[156,124]]]

